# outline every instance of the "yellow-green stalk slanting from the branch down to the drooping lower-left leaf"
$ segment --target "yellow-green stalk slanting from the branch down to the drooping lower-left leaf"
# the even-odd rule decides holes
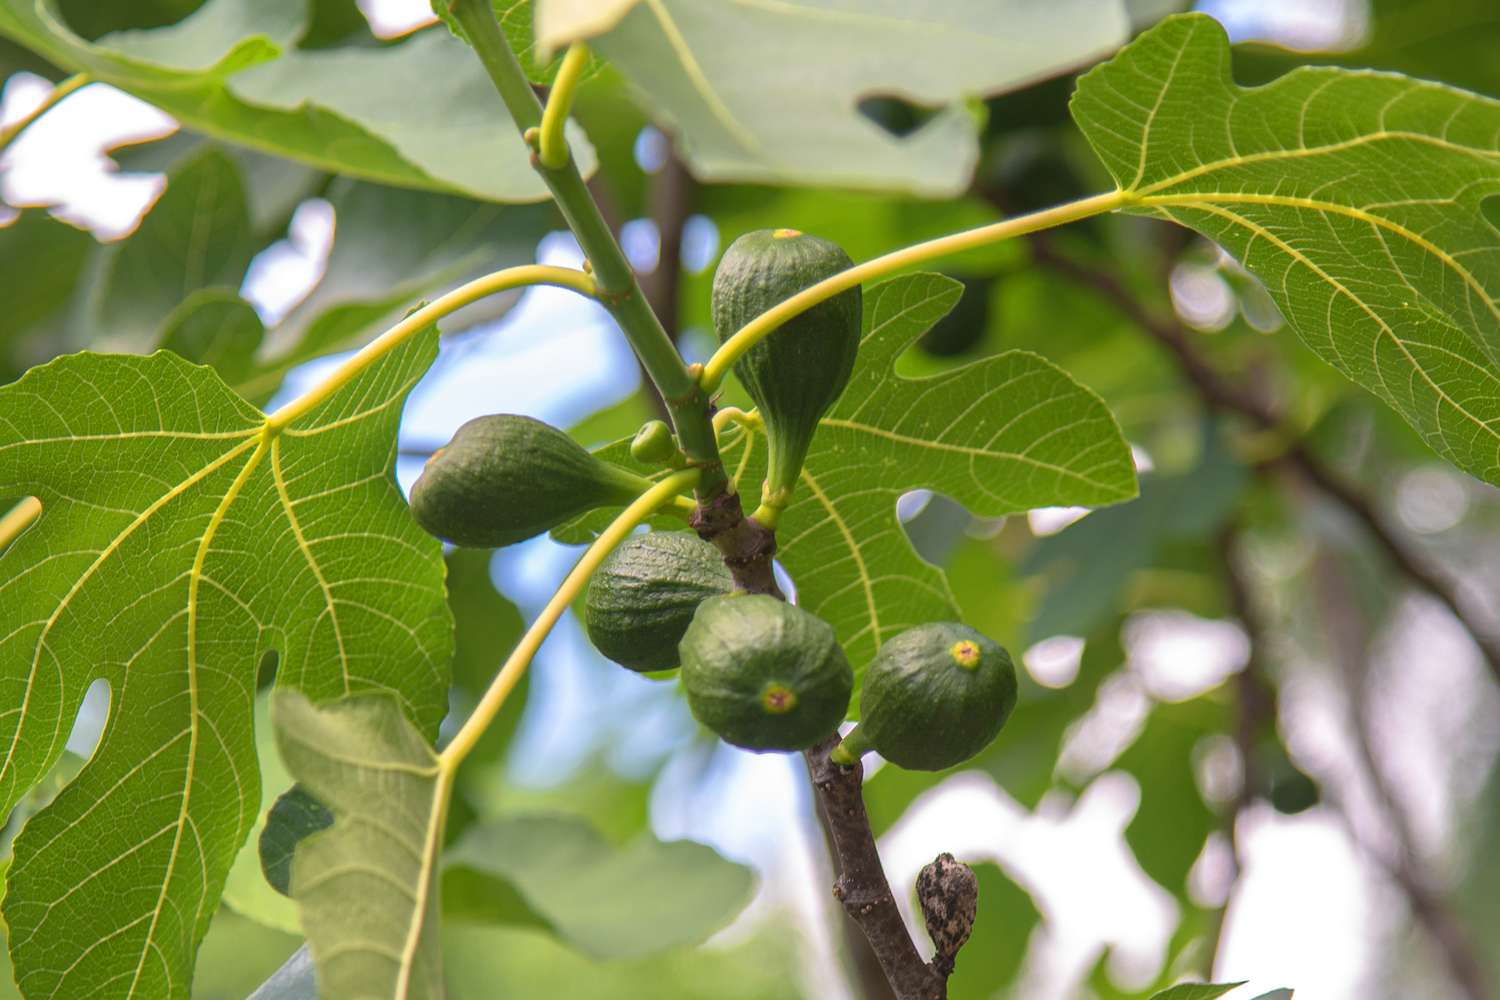
[[[495,675],[490,682],[489,690],[484,691],[484,697],[480,699],[478,706],[474,714],[468,717],[464,727],[459,729],[458,735],[453,736],[441,754],[438,754],[438,763],[446,769],[458,768],[459,763],[474,750],[474,744],[484,733],[484,729],[495,720],[500,709],[506,705],[506,699],[514,690],[516,684],[525,675],[526,667],[531,666],[531,658],[537,655],[537,649],[542,648],[543,640],[556,625],[558,618],[567,610],[573,598],[579,595],[584,585],[588,583],[588,577],[594,574],[598,564],[604,561],[615,547],[626,540],[626,537],[634,531],[636,525],[644,522],[652,513],[675,504],[680,493],[693,489],[698,483],[699,471],[686,469],[682,472],[674,472],[666,477],[650,490],[642,493],[636,501],[627,507],[609,528],[594,540],[594,544],[588,547],[584,556],[578,561],[573,570],[562,580],[562,585],[548,601],[548,606],[542,609],[537,615],[537,621],[531,622],[531,628],[526,634],[520,637],[516,649],[506,660],[506,664]]]

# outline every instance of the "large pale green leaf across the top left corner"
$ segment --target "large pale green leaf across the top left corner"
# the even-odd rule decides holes
[[[50,0],[0,0],[0,36],[196,132],[386,184],[546,196],[483,67],[448,31],[309,51],[294,48],[304,25],[304,0],[208,0],[177,24],[88,42]],[[570,141],[591,171],[586,139],[572,129]]]

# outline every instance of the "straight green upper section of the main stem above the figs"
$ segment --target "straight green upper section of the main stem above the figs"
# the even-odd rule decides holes
[[[489,73],[500,99],[510,111],[512,120],[522,135],[530,129],[537,129],[537,136],[543,133],[543,109],[531,90],[516,54],[510,51],[495,12],[489,0],[448,0],[448,10],[464,28],[474,54],[478,55],[484,70]],[[570,57],[573,51],[568,52]],[[578,57],[582,61],[582,57]],[[576,85],[574,66],[572,73],[560,73],[561,97],[558,112],[554,118],[561,121],[566,117],[572,90]],[[554,126],[560,127],[560,126]],[[688,460],[702,469],[702,480],[698,484],[700,498],[716,498],[728,489],[723,462],[718,459],[718,445],[714,441],[714,429],[710,424],[710,396],[698,385],[696,370],[690,370],[678,354],[672,337],[662,328],[662,321],[651,312],[636,273],[626,259],[624,250],[615,240],[614,232],[598,211],[598,204],[588,193],[584,177],[578,172],[573,157],[564,157],[561,166],[549,166],[538,154],[534,160],[537,172],[546,181],[552,198],[556,201],[568,228],[578,237],[584,255],[594,270],[598,286],[598,300],[614,315],[615,322],[624,331],[630,346],[640,358],[642,367],[656,384],[662,399],[666,400],[672,415],[672,424],[678,441]]]

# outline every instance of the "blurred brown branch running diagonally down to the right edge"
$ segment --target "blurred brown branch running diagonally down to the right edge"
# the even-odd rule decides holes
[[[1203,403],[1216,412],[1238,414],[1256,427],[1275,430],[1282,427],[1281,414],[1252,393],[1228,382],[1194,349],[1190,333],[1176,319],[1158,316],[1148,310],[1113,274],[1090,268],[1059,252],[1046,235],[1029,237],[1032,256],[1059,274],[1086,285],[1113,303],[1131,322],[1144,330],[1176,361],[1182,376],[1197,390]],[[1371,541],[1384,552],[1401,576],[1414,586],[1437,598],[1468,631],[1490,672],[1500,681],[1500,639],[1486,631],[1467,609],[1458,585],[1432,565],[1416,547],[1392,528],[1386,517],[1354,484],[1329,468],[1305,442],[1294,441],[1286,453],[1270,465],[1293,471],[1326,499],[1359,522]]]

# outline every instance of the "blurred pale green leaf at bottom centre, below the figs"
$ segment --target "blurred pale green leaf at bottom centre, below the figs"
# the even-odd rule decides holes
[[[444,895],[452,901],[450,886],[460,886],[470,919],[540,922],[596,958],[698,945],[750,901],[753,885],[750,870],[711,847],[646,834],[616,850],[564,816],[476,826],[444,867]]]

